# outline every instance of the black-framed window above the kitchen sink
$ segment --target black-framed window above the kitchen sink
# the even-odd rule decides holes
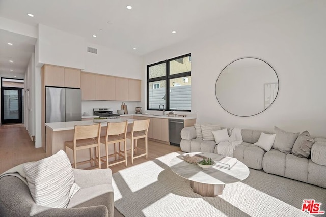
[[[147,66],[147,110],[191,111],[191,54]]]

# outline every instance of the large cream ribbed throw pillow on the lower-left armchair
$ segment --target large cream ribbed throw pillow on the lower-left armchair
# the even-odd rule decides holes
[[[31,195],[36,204],[66,208],[80,187],[74,182],[67,154],[60,150],[48,158],[23,166]]]

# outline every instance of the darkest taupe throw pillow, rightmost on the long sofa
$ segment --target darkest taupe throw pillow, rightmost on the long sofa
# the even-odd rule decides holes
[[[291,153],[300,158],[308,158],[314,142],[309,132],[304,131],[295,140]]]

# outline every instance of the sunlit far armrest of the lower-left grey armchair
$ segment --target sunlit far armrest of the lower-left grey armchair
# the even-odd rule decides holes
[[[88,188],[101,184],[110,184],[112,186],[111,169],[82,170],[73,168],[72,171],[75,176],[75,182],[81,188]]]

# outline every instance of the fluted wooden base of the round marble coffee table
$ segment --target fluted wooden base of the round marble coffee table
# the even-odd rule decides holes
[[[204,197],[216,197],[222,195],[225,184],[204,184],[196,181],[190,181],[190,187],[197,194]]]

